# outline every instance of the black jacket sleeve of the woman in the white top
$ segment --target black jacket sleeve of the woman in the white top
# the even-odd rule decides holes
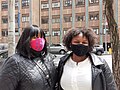
[[[115,80],[114,80],[114,77],[113,77],[113,74],[112,74],[107,62],[104,61],[104,63],[105,64],[104,64],[103,71],[104,71],[104,76],[105,76],[105,81],[106,81],[106,89],[107,90],[118,90]]]

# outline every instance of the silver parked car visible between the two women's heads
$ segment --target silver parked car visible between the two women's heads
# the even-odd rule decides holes
[[[62,44],[51,44],[47,48],[50,53],[65,54],[67,52],[67,49]]]

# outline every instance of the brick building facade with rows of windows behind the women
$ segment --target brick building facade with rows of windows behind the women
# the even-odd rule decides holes
[[[62,43],[70,28],[92,28],[98,43],[110,43],[104,0],[15,0],[16,42],[24,28],[36,24],[48,43]],[[117,6],[116,6],[117,5]],[[115,18],[120,31],[120,1],[114,0]],[[0,42],[7,43],[8,0],[0,0]]]

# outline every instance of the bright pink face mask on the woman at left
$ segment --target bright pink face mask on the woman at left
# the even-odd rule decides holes
[[[30,41],[31,48],[35,51],[41,51],[45,45],[44,38],[36,38]]]

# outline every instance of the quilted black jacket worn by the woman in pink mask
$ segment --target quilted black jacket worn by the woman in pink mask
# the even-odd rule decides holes
[[[0,68],[0,90],[54,90],[56,68],[54,56],[47,54],[30,60],[19,54],[9,57]]]

